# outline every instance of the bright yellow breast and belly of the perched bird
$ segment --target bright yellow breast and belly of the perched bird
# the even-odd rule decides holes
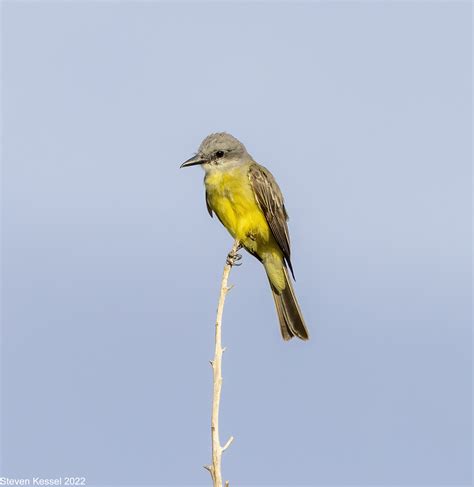
[[[270,240],[270,228],[248,178],[248,166],[214,170],[204,179],[212,210],[234,238],[257,250]]]

